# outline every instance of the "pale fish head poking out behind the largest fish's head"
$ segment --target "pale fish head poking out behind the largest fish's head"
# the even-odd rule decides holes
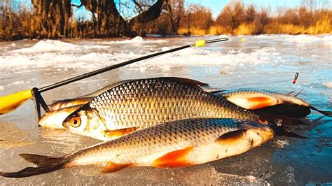
[[[43,115],[43,117],[39,119],[38,123],[41,127],[46,127],[48,129],[64,129],[64,127],[62,127],[63,120],[75,110],[81,108],[81,106],[83,105],[70,106],[50,111]]]

